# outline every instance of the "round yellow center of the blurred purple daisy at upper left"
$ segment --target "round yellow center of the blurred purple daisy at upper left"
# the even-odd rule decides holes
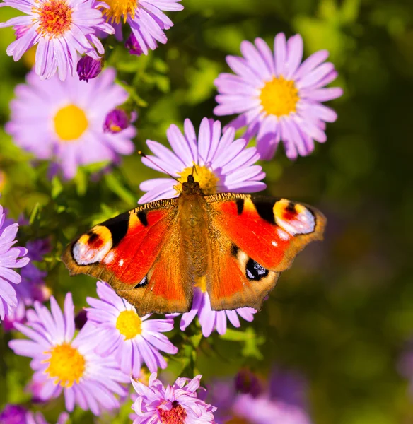
[[[88,118],[76,105],[62,107],[54,115],[54,130],[62,141],[78,139],[87,128]]]

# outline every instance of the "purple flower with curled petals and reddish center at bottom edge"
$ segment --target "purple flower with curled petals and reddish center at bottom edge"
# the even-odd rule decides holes
[[[214,424],[216,408],[198,399],[201,377],[178,378],[166,388],[156,379],[156,373],[149,377],[148,386],[132,379],[138,394],[132,406],[134,424]]]

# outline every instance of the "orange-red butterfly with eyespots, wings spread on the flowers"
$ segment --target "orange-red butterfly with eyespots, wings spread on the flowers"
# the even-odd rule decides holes
[[[187,312],[194,285],[213,310],[260,310],[282,271],[313,240],[325,216],[257,194],[205,195],[188,175],[177,198],[152,201],[95,225],[71,242],[71,275],[109,283],[139,316]]]

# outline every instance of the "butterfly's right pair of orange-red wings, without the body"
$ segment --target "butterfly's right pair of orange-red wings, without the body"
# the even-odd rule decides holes
[[[322,240],[325,217],[310,206],[253,194],[214,194],[206,201],[214,234],[206,288],[214,310],[259,310],[296,254]]]

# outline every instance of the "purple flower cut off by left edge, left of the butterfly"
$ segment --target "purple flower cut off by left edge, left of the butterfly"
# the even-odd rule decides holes
[[[11,314],[17,307],[16,290],[12,284],[21,282],[21,276],[12,268],[26,266],[30,259],[24,257],[28,250],[24,247],[12,247],[15,240],[18,223],[6,225],[6,213],[0,205],[0,319]]]

